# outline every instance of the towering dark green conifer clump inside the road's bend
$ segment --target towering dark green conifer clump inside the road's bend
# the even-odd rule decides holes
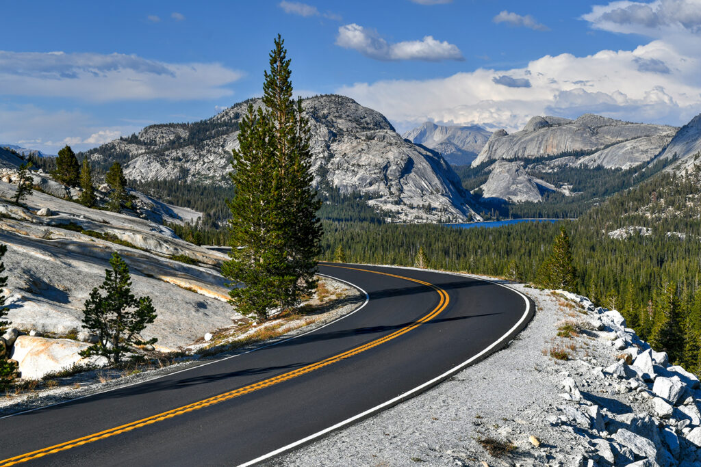
[[[298,305],[313,291],[320,249],[308,123],[301,101],[292,100],[286,54],[278,36],[264,74],[265,108],[249,105],[231,162],[233,248],[222,274],[238,285],[230,292],[231,304],[260,320],[275,307]]]

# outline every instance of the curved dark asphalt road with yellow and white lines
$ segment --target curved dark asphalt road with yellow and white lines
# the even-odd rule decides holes
[[[0,467],[261,461],[437,384],[503,347],[534,310],[511,289],[451,274],[320,272],[362,288],[365,305],[270,347],[4,417]]]

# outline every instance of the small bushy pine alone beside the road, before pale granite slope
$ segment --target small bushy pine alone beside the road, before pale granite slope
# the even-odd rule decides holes
[[[90,292],[83,309],[83,328],[97,335],[98,342],[81,351],[81,356],[102,355],[119,363],[130,345],[153,344],[137,335],[156,320],[151,297],[136,298],[131,293],[129,267],[116,251],[109,260],[112,270],[104,271],[104,282]]]

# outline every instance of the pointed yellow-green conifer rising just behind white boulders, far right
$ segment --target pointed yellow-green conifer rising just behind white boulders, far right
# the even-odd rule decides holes
[[[667,352],[669,361],[674,363],[679,362],[684,347],[680,315],[681,306],[679,298],[676,297],[676,286],[669,282],[658,298],[650,345],[657,351]]]

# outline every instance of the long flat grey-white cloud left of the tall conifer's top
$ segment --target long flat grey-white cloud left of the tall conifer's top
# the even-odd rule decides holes
[[[243,74],[218,63],[175,64],[113,53],[0,51],[0,95],[121,99],[212,99]]]

